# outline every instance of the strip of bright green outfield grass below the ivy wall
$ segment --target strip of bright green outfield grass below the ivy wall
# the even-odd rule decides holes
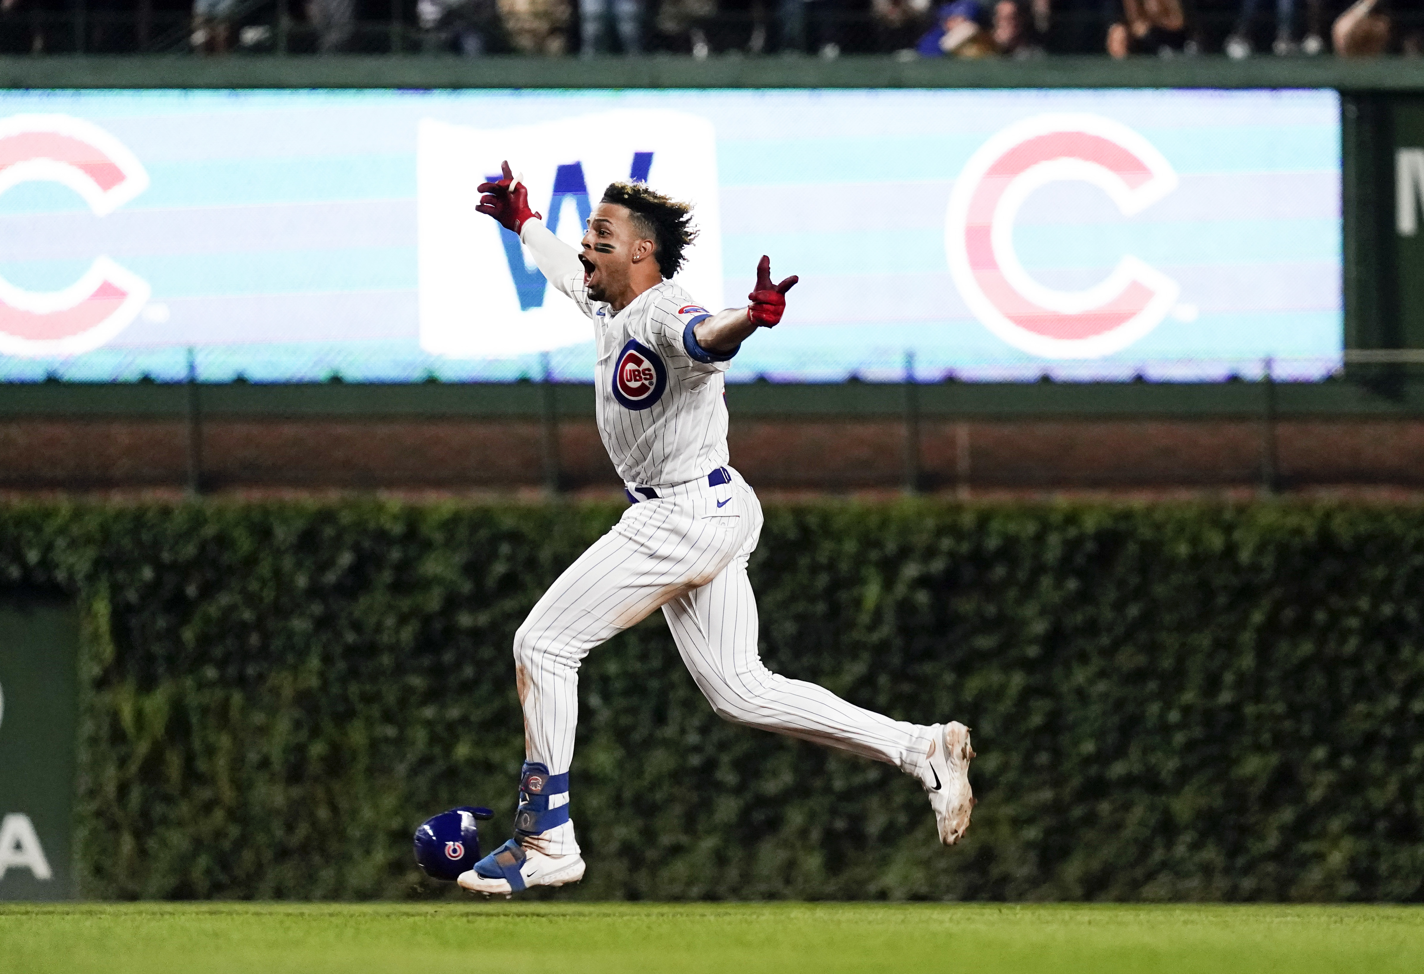
[[[1424,971],[1424,908],[0,904],[0,971]]]

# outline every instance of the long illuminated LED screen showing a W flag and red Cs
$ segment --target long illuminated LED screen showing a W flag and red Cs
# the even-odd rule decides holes
[[[474,212],[510,159],[577,244],[696,205],[682,285],[800,275],[729,379],[1319,377],[1333,91],[0,95],[0,379],[590,380],[592,325]]]

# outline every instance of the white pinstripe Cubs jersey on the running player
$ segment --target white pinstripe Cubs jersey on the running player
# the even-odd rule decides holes
[[[692,326],[711,312],[671,281],[617,315],[590,299],[581,273],[554,286],[594,319],[598,434],[618,476],[665,487],[726,466],[722,373],[732,356],[708,353],[692,337]]]

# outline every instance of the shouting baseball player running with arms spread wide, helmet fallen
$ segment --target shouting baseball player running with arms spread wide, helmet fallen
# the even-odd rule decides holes
[[[672,281],[696,235],[689,205],[642,182],[614,182],[575,252],[530,209],[508,162],[503,171],[480,185],[478,209],[518,234],[548,282],[592,319],[598,433],[631,506],[514,637],[527,755],[514,837],[460,886],[513,893],[582,879],[568,789],[578,666],[658,608],[719,716],[896,765],[928,792],[940,840],[958,842],[974,805],[968,728],[891,721],[779,676],[758,655],[746,562],[762,507],[728,466],[722,373],[746,337],[780,322],[796,278],[773,285],[763,256],[749,303],[712,313]]]

